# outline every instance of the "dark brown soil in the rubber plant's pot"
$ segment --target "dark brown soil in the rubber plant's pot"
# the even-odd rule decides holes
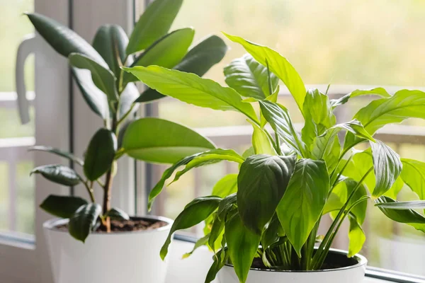
[[[159,229],[166,225],[166,222],[156,219],[131,217],[130,220],[112,220],[111,232],[147,231]],[[56,229],[68,231],[68,224],[56,226]],[[94,232],[106,233],[106,229],[103,226],[99,226]]]

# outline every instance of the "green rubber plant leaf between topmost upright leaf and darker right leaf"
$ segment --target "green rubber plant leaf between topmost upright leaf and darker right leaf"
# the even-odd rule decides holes
[[[131,64],[131,67],[157,65],[171,69],[181,62],[181,59],[188,52],[191,46],[195,30],[193,28],[183,28],[164,35],[161,39],[150,46],[145,52],[140,54]],[[124,83],[137,81],[137,78],[130,73],[124,74]]]

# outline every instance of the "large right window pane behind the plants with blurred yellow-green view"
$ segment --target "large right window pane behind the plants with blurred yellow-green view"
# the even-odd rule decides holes
[[[186,0],[174,28],[192,25],[198,40],[223,30],[273,47],[290,60],[308,86],[324,92],[331,83],[329,95],[336,97],[373,86],[385,86],[390,92],[424,88],[425,42],[420,28],[425,26],[424,13],[425,4],[413,0]],[[238,45],[227,43],[232,49],[205,75],[221,83],[223,67],[244,54]],[[279,100],[290,109],[295,122],[302,122],[288,93],[282,91]],[[351,106],[336,113],[337,118],[348,121],[369,101],[364,97],[353,100]],[[250,142],[251,127],[238,113],[196,108],[167,98],[152,105],[152,112],[196,127],[217,146],[237,149],[241,154]],[[382,129],[379,138],[402,157],[425,161],[422,126],[423,120],[390,125]],[[153,183],[164,168],[154,168]],[[184,175],[157,199],[154,213],[176,217],[193,197],[208,195],[217,180],[236,169],[232,164],[219,163]],[[414,196],[404,190],[399,197],[412,200]],[[423,234],[393,223],[371,205],[368,214],[362,253],[368,257],[369,265],[425,276]],[[336,248],[347,248],[344,231],[343,228],[339,233]],[[201,233],[202,229],[190,232]]]

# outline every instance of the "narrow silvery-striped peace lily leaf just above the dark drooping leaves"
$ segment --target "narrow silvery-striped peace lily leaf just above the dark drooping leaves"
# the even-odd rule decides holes
[[[290,120],[288,109],[278,103],[273,103],[268,100],[259,101],[261,113],[263,113],[267,122],[270,123],[273,130],[279,135],[280,139],[300,154],[307,156],[307,146],[301,140],[300,135],[295,130],[292,121]]]

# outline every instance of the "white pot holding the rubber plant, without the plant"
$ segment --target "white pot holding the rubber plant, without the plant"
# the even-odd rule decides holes
[[[146,216],[167,223],[155,230],[91,233],[86,243],[68,231],[55,227],[68,219],[52,219],[43,224],[55,283],[164,283],[167,260],[159,257],[173,221]]]

